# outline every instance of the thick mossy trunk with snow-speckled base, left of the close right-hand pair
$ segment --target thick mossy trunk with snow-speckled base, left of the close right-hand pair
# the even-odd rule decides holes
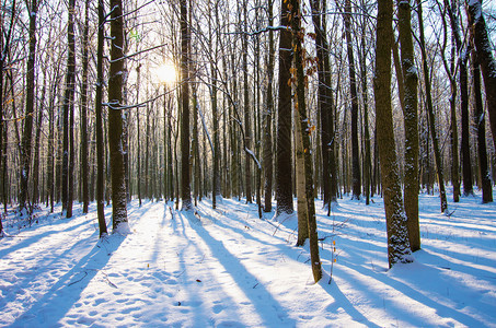
[[[391,107],[391,32],[393,8],[390,0],[378,0],[376,38],[376,122],[381,166],[382,190],[388,230],[390,268],[397,262],[412,261],[403,209]]]

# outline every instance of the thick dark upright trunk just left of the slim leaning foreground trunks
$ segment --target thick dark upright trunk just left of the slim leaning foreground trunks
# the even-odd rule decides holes
[[[290,3],[280,1],[280,25],[290,25]],[[291,160],[291,32],[280,31],[279,37],[279,104],[276,139],[276,215],[292,213],[292,160]]]

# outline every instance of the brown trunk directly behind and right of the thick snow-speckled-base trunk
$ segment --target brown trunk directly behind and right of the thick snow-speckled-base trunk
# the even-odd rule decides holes
[[[412,251],[420,249],[418,223],[418,118],[417,118],[417,69],[412,40],[412,12],[410,0],[397,1],[397,17],[401,42],[401,63],[404,85],[405,120],[405,213]]]

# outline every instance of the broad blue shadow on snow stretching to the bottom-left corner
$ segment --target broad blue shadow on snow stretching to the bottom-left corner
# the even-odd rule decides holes
[[[80,298],[81,292],[99,273],[99,270],[105,267],[111,258],[109,255],[119,247],[124,239],[124,236],[111,235],[106,242],[99,241],[72,269],[59,278],[42,298],[18,317],[11,327],[59,326],[58,321]],[[104,306],[101,308],[105,311]]]

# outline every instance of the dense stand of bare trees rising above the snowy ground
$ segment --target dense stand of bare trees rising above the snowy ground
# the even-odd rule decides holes
[[[141,206],[244,204],[297,218],[316,283],[351,201],[411,263],[420,199],[493,202],[495,45],[482,0],[2,0],[0,244],[41,213],[105,239]]]

